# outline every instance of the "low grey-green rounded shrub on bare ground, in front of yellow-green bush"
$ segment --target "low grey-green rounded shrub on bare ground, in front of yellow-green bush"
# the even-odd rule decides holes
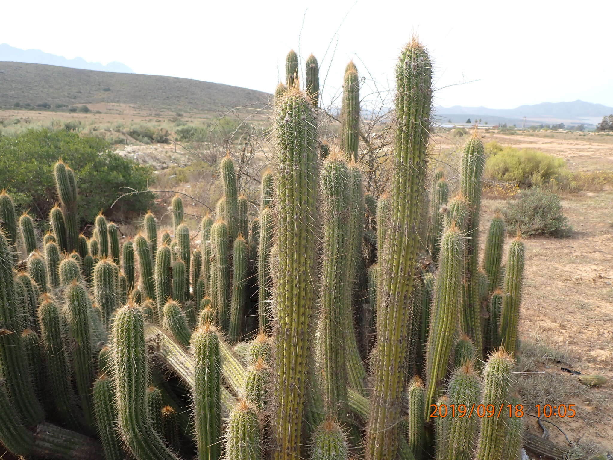
[[[528,236],[569,236],[573,228],[562,213],[560,197],[539,188],[522,191],[502,210],[510,235],[519,232]]]

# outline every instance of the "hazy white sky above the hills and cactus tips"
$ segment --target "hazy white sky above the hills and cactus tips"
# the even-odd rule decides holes
[[[613,106],[611,0],[35,0],[2,10],[0,43],[267,92],[290,48],[302,63],[313,52],[327,98],[349,59],[393,86],[398,50],[416,31],[435,62],[440,105]]]

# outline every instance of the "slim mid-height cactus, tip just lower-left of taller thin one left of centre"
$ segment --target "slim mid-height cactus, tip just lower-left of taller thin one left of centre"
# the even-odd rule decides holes
[[[230,266],[228,226],[223,220],[216,221],[211,227],[211,242],[213,243],[213,283],[211,293],[213,305],[217,311],[218,324],[223,331],[227,331],[229,323],[228,301],[230,295]]]

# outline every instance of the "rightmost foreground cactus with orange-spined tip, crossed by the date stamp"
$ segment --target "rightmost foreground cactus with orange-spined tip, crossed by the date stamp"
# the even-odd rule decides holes
[[[508,404],[513,383],[515,360],[504,350],[498,350],[485,363],[483,370],[482,404],[503,407]],[[508,421],[502,417],[483,417],[475,460],[501,458],[506,441]]]

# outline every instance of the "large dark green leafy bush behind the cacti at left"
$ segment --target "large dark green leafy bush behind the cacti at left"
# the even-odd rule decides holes
[[[121,220],[122,215],[129,218],[131,212],[144,212],[153,198],[150,193],[126,197],[110,209],[121,187],[147,190],[152,175],[148,167],[108,148],[102,139],[80,137],[64,129],[31,129],[18,136],[0,136],[0,187],[7,188],[21,209],[46,219],[58,199],[53,164],[61,158],[75,171],[77,212],[83,224],[93,222],[101,210],[112,220]]]

